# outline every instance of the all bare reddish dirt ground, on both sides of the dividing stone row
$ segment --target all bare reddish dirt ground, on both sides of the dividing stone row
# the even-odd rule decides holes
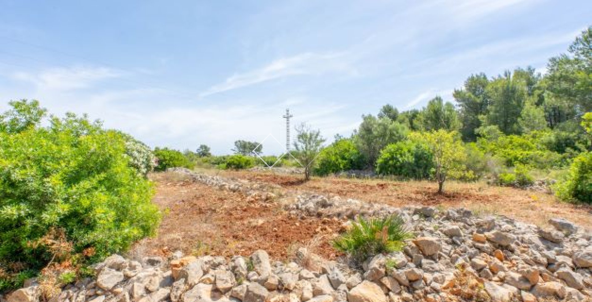
[[[282,194],[318,192],[402,207],[432,205],[465,207],[476,214],[503,214],[544,226],[551,217],[565,217],[592,228],[592,207],[557,201],[543,192],[491,187],[487,184],[450,182],[446,194],[436,194],[432,182],[398,182],[378,179],[313,178],[273,172],[200,171],[230,178],[277,184]],[[158,234],[134,246],[132,253],[166,255],[182,250],[186,255],[251,255],[265,249],[274,259],[291,259],[298,246],[308,246],[323,258],[338,253],[330,246],[342,231],[343,221],[289,217],[275,200],[247,197],[198,184],[175,173],[153,174],[156,203],[163,211]]]

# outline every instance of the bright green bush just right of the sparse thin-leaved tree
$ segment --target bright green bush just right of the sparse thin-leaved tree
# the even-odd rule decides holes
[[[340,139],[333,142],[320,152],[317,162],[314,172],[322,176],[362,169],[365,165],[365,160],[352,139]]]

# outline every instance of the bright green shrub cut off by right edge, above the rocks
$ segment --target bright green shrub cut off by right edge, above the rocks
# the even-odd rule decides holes
[[[556,185],[556,195],[562,200],[592,204],[592,152],[574,159],[567,177]]]

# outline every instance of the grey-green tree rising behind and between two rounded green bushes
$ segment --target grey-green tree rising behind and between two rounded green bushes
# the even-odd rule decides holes
[[[407,137],[407,127],[390,118],[376,118],[362,115],[362,123],[355,132],[354,142],[360,153],[374,166],[380,151],[388,144],[396,143]]]

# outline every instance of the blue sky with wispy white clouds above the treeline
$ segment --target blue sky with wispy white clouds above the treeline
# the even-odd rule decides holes
[[[290,107],[331,139],[387,103],[452,100],[471,73],[545,72],[591,13],[555,0],[0,0],[0,110],[35,98],[151,146],[221,154],[237,139],[283,144]]]

